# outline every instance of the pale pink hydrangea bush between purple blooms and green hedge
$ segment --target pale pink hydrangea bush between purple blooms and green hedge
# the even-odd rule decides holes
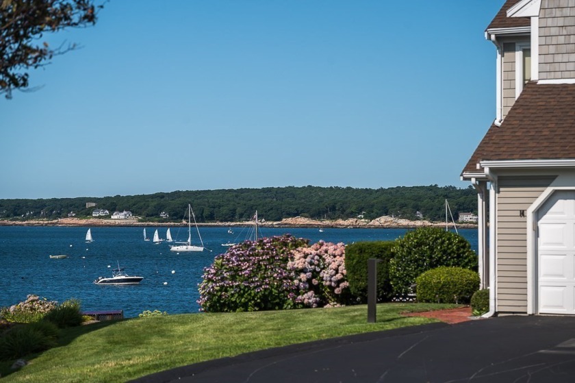
[[[338,306],[349,297],[346,280],[345,245],[325,243],[292,251],[288,269],[294,273],[299,295],[296,303],[307,307]]]

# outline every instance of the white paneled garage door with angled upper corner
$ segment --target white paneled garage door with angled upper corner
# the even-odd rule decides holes
[[[557,191],[539,209],[541,314],[575,314],[575,191]]]

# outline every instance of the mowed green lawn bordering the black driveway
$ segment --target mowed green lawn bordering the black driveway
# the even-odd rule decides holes
[[[196,362],[270,347],[431,323],[402,312],[454,308],[447,304],[379,304],[377,323],[367,306],[303,310],[179,314],[70,328],[61,346],[27,358],[29,365],[2,382],[126,382]]]

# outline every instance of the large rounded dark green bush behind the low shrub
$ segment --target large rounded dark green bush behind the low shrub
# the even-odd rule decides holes
[[[407,295],[416,278],[437,267],[462,267],[477,270],[477,256],[459,234],[439,227],[422,227],[396,240],[389,261],[389,281],[394,294]]]

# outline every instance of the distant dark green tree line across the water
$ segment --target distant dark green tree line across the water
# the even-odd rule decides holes
[[[77,197],[52,199],[0,199],[0,219],[56,219],[92,217],[94,209],[112,214],[127,210],[146,221],[181,221],[188,203],[199,222],[245,221],[255,210],[266,221],[290,217],[348,219],[363,215],[375,219],[383,215],[405,219],[445,220],[445,200],[453,217],[459,212],[477,211],[474,189],[455,186],[398,186],[394,188],[350,188],[288,186],[282,188],[242,188],[189,190],[152,195]],[[87,203],[96,206],[86,207]],[[168,219],[159,217],[161,212]],[[418,214],[418,212],[420,214]]]

